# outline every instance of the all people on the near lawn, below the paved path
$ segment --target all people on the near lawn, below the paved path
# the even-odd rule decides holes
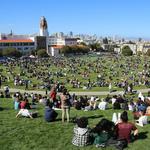
[[[14,109],[19,110],[16,117],[24,116],[29,118],[38,117],[38,111],[30,111],[30,109],[37,109],[37,103],[41,103],[45,107],[44,118],[47,122],[52,122],[57,119],[58,113],[54,110],[54,103],[56,99],[56,93],[50,94],[50,98],[46,96],[31,94],[31,103],[28,100],[29,95],[25,93],[15,93],[14,98]],[[38,97],[38,100],[37,100]],[[60,95],[61,111],[62,111],[62,122],[65,121],[67,116],[67,122],[70,122],[70,95],[67,90],[64,90]],[[122,96],[107,96],[105,99],[100,100],[98,97],[92,96],[88,98],[82,96],[80,100],[76,100],[76,96],[72,96],[72,106],[75,108],[80,103],[80,109],[84,110],[95,110],[97,108],[101,110],[107,109],[108,104],[112,104],[113,109],[130,110],[133,112],[135,124],[144,126],[148,123],[147,114],[150,114],[148,103],[145,99],[139,97],[137,102],[127,101]],[[105,147],[107,145],[118,146],[118,142],[124,143],[124,146],[130,143],[133,139],[138,136],[138,130],[135,124],[128,122],[127,111],[122,114],[113,114],[112,121],[103,118],[94,128],[88,127],[88,118],[81,117],[76,119],[76,126],[74,127],[74,136],[72,144],[76,146],[86,146],[89,144],[95,144],[96,147]],[[122,146],[122,145],[119,145]]]

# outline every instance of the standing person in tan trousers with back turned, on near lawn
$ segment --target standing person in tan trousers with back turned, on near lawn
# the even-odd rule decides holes
[[[67,89],[64,89],[63,93],[60,95],[61,99],[61,109],[62,109],[62,122],[65,122],[65,116],[67,116],[67,122],[70,118],[70,101]]]

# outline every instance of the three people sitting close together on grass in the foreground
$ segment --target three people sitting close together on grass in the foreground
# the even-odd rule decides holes
[[[138,136],[138,129],[133,123],[128,122],[126,111],[121,114],[120,121],[116,125],[103,118],[92,129],[88,127],[88,119],[81,117],[76,120],[73,132],[72,144],[75,146],[95,144],[96,147],[105,147],[114,145],[118,149],[127,146]]]

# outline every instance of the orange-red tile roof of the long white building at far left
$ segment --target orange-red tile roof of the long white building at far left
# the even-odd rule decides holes
[[[33,42],[32,40],[30,39],[10,39],[10,40],[0,40],[0,43],[31,43]]]

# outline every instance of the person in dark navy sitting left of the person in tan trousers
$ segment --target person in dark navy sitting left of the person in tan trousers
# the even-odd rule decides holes
[[[53,104],[50,102],[47,102],[46,107],[45,107],[45,120],[47,122],[55,121],[58,116],[58,113],[54,109],[52,109],[52,107],[53,107]]]

